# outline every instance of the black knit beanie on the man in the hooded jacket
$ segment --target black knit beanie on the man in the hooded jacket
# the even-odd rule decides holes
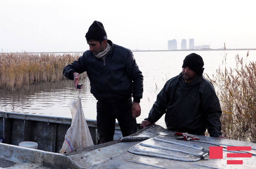
[[[197,74],[201,74],[204,66],[203,58],[196,53],[191,53],[183,60],[182,67],[186,66],[190,67]]]

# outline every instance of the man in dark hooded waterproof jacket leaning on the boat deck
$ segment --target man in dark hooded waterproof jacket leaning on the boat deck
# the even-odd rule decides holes
[[[182,72],[168,80],[157,95],[148,118],[141,123],[145,128],[165,114],[168,130],[226,138],[221,134],[221,108],[212,83],[203,76],[204,61],[191,53],[183,61]]]

